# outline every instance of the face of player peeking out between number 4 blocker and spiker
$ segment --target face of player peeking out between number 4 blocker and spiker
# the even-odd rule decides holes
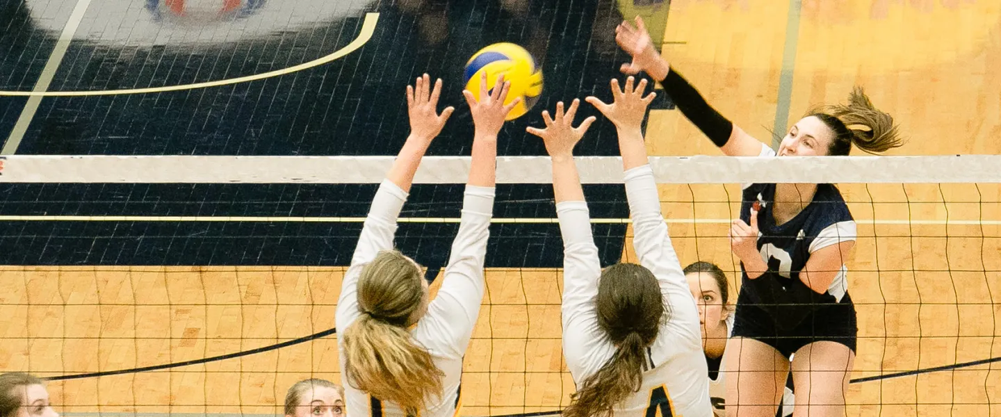
[[[689,281],[689,291],[699,306],[699,320],[702,322],[703,337],[710,329],[726,326],[730,316],[730,281],[727,274],[714,263],[695,262],[685,267],[685,277]]]

